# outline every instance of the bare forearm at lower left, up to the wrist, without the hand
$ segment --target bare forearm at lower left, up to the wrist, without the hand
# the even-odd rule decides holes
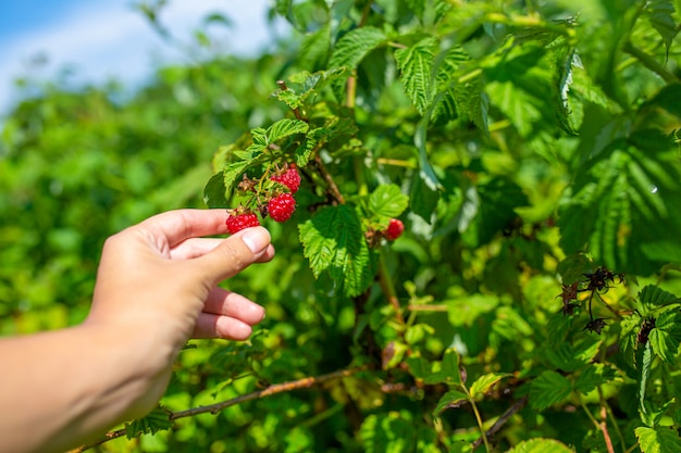
[[[83,325],[0,340],[0,451],[63,452],[150,408],[163,362],[127,334]]]

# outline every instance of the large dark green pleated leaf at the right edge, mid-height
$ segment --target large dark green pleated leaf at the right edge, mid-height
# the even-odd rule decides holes
[[[578,171],[564,198],[558,225],[567,253],[586,247],[610,269],[649,275],[678,262],[673,247],[681,218],[681,166],[669,149],[646,150],[616,142]],[[657,247],[653,255],[651,247]]]

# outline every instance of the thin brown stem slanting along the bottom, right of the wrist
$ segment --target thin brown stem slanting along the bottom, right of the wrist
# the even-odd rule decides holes
[[[169,412],[168,419],[169,420],[176,420],[178,418],[191,417],[191,416],[195,416],[195,415],[207,414],[207,413],[218,414],[219,412],[221,412],[221,411],[223,411],[223,410],[225,410],[225,408],[227,408],[230,406],[234,406],[234,405],[237,405],[237,404],[240,404],[240,403],[245,403],[247,401],[258,400],[258,399],[261,399],[261,398],[271,397],[273,394],[283,393],[283,392],[289,392],[289,391],[298,390],[298,389],[308,389],[310,387],[319,386],[319,385],[324,383],[324,382],[330,381],[330,380],[352,376],[352,375],[355,375],[355,374],[357,374],[359,372],[363,372],[363,370],[366,370],[368,368],[369,368],[368,365],[363,365],[363,366],[358,366],[358,367],[355,367],[355,368],[339,369],[337,372],[329,373],[326,375],[321,375],[321,376],[317,376],[317,377],[310,376],[310,377],[305,377],[302,379],[290,380],[288,382],[273,383],[273,385],[267,387],[263,390],[258,390],[258,391],[255,391],[255,392],[246,393],[246,394],[243,394],[240,397],[236,397],[236,398],[233,398],[233,399],[226,400],[226,401],[221,401],[219,403],[211,404],[211,405],[208,405],[208,406],[198,406],[198,407],[193,407],[193,408],[189,408],[189,410],[186,410],[186,411]],[[95,448],[97,445],[101,445],[102,443],[108,442],[110,440],[123,437],[123,436],[125,436],[125,433],[126,433],[125,429],[117,429],[115,431],[107,432],[97,442],[94,442],[94,443],[90,443],[90,444],[87,444],[87,445],[78,446],[77,449],[71,450],[69,453],[81,453],[81,452],[84,452],[84,451],[89,450],[91,448]]]

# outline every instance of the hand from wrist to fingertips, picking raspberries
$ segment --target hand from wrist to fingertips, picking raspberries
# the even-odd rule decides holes
[[[160,397],[190,337],[244,340],[264,310],[218,284],[274,255],[270,235],[248,228],[227,239],[224,210],[182,210],[150,217],[104,243],[85,322],[132,341]]]

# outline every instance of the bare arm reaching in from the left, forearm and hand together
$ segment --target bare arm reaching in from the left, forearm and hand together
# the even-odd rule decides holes
[[[245,340],[264,309],[219,288],[274,255],[270,234],[227,239],[224,210],[150,217],[103,247],[75,327],[0,340],[0,451],[63,452],[152,410],[189,338]]]

